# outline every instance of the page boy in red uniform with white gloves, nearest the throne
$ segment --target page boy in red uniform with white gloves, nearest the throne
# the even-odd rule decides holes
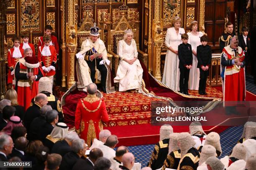
[[[51,37],[44,35],[44,46],[38,47],[38,61],[41,62],[44,76],[51,80],[51,88],[53,86],[53,76],[55,75],[55,65],[57,62],[57,55],[54,46],[50,45]]]

